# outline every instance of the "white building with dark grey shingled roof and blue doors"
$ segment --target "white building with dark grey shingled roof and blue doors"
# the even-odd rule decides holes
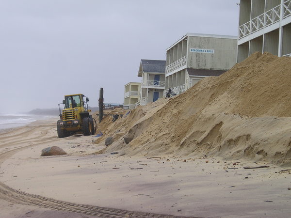
[[[140,62],[138,77],[142,78],[140,104],[146,105],[163,97],[165,89],[166,61],[144,60]]]

